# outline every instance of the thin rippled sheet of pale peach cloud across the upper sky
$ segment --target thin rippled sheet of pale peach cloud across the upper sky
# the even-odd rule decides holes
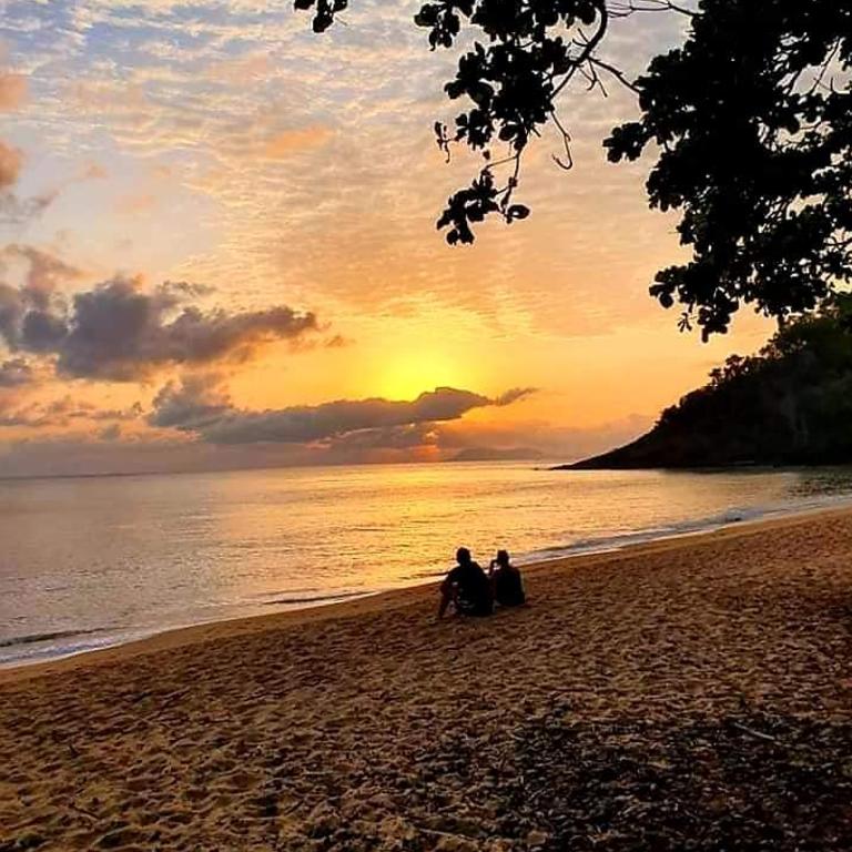
[[[210,223],[227,234],[193,255],[193,275],[239,280],[271,298],[282,282],[315,287],[317,303],[331,295],[372,315],[422,296],[509,332],[523,322],[560,335],[630,323],[626,292],[646,298],[658,267],[648,255],[669,225],[646,210],[642,170],[615,169],[601,154],[602,135],[635,111],[617,87],[607,99],[566,101],[576,174],[561,180],[550,161],[558,134],[530,151],[523,187],[534,219],[484,227],[476,248],[454,253],[434,221],[475,164],[459,156],[444,168],[429,128],[458,110],[442,93],[455,57],[426,51],[405,4],[352,3],[346,26],[322,39],[292,3],[14,6],[11,49],[39,69],[39,109],[23,112],[22,128],[58,150],[109,156],[116,176],[115,148],[140,163],[168,160],[168,189],[202,210],[181,223],[187,237]],[[633,73],[677,43],[681,19],[613,22],[608,43]]]

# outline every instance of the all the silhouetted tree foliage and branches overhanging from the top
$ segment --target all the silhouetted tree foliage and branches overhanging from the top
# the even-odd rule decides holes
[[[347,0],[295,0],[327,29]],[[637,80],[599,49],[615,18],[688,18],[684,42]],[[751,304],[783,321],[812,311],[852,280],[852,4],[838,0],[429,0],[415,18],[433,50],[463,48],[445,85],[466,106],[438,145],[483,158],[469,186],[437,221],[447,242],[473,243],[489,216],[526,219],[516,200],[523,155],[547,124],[565,142],[560,94],[572,80],[602,90],[613,77],[636,92],[641,115],[604,144],[612,162],[657,156],[649,203],[680,215],[691,258],[657,273],[665,307],[702,337],[724,333]]]

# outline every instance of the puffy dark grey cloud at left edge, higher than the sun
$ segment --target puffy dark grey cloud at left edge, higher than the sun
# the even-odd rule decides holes
[[[12,351],[55,355],[67,377],[135,382],[173,365],[245,362],[266,343],[320,329],[313,313],[284,305],[242,313],[182,305],[202,292],[185,282],[145,292],[139,278],[115,277],[62,307],[45,305],[31,284],[0,284],[0,338]]]

